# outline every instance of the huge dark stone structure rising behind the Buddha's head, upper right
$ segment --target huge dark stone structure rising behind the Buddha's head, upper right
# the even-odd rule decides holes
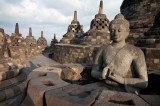
[[[139,39],[144,38],[144,33],[154,25],[154,18],[159,10],[160,1],[158,0],[123,1],[121,13],[130,21],[131,32],[129,38],[135,41],[132,42],[133,44],[136,44]]]

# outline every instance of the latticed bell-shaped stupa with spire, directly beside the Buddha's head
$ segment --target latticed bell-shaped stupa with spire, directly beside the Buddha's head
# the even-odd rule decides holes
[[[101,0],[99,5],[99,12],[95,15],[95,18],[91,21],[90,29],[84,34],[81,39],[81,44],[86,45],[100,45],[109,44],[109,20],[103,13],[103,1]]]

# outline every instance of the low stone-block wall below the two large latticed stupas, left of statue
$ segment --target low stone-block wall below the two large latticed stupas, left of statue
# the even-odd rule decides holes
[[[99,46],[56,44],[52,59],[60,63],[92,64],[98,47]]]

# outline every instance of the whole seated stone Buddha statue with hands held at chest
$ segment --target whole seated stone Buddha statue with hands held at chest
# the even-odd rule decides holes
[[[145,57],[141,49],[126,44],[129,35],[129,22],[122,14],[115,16],[109,25],[112,43],[102,46],[95,58],[92,77],[104,80],[116,90],[138,92],[148,85]]]

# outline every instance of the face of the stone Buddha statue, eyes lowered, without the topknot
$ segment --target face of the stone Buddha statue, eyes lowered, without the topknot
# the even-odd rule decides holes
[[[125,39],[129,35],[129,30],[124,24],[114,23],[111,25],[110,33],[111,40],[118,43],[125,41]]]

